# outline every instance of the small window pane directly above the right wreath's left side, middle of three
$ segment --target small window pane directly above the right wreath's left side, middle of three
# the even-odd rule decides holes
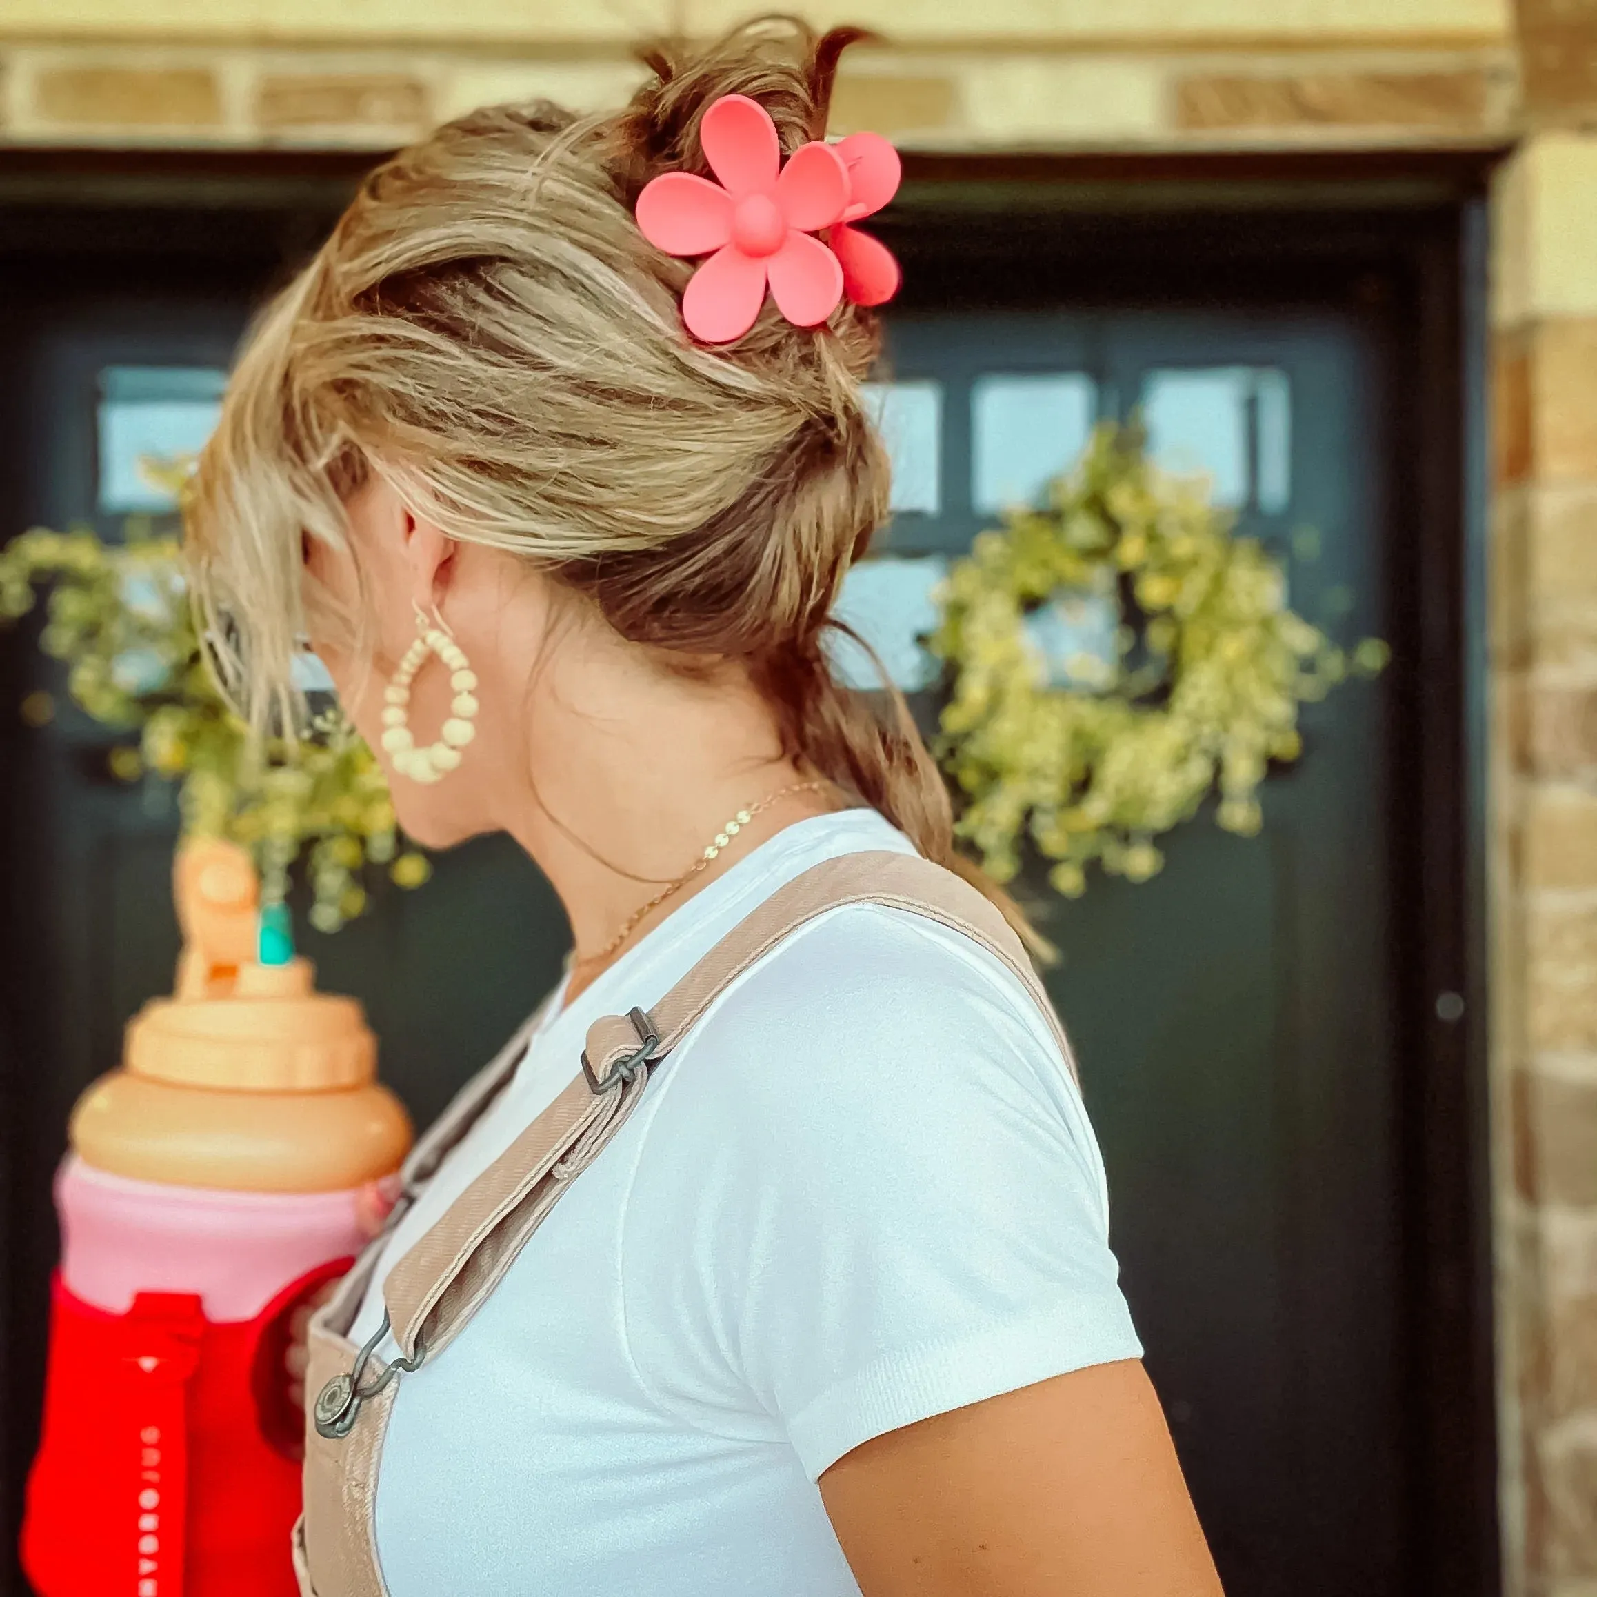
[[[971,385],[971,503],[1035,505],[1086,449],[1097,386],[1081,372],[979,377]]]

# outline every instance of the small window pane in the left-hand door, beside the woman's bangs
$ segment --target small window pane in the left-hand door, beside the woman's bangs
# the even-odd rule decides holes
[[[99,377],[99,509],[176,509],[145,460],[196,454],[216,426],[227,372],[204,366],[107,366]]]

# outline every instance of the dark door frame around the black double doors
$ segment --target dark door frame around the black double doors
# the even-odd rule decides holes
[[[878,228],[909,267],[909,292],[941,305],[969,297],[995,260],[1024,262],[1030,246],[1051,270],[1068,264],[1076,299],[1167,300],[1172,260],[1195,303],[1234,303],[1244,291],[1345,292],[1349,283],[1357,292],[1361,264],[1369,292],[1394,295],[1388,313],[1410,380],[1393,417],[1409,470],[1393,492],[1413,535],[1402,604],[1421,660],[1404,827],[1421,846],[1393,861],[1423,931],[1404,973],[1405,1447],[1418,1525],[1412,1591],[1434,1597],[1500,1591],[1484,929],[1484,193],[1501,153],[912,155],[902,196]],[[374,158],[0,152],[0,257],[232,256],[276,260],[286,275]],[[1036,287],[1027,291],[1033,299]],[[10,808],[0,791],[0,822]],[[3,928],[5,941],[16,929]],[[1456,1008],[1445,995],[1463,998],[1461,1019],[1445,1019]],[[8,1008],[0,1005],[0,1046],[13,1030]],[[14,1056],[0,1059],[0,1091],[21,1088]],[[0,1142],[10,1188],[5,1153]],[[21,1482],[0,1487],[10,1520]]]

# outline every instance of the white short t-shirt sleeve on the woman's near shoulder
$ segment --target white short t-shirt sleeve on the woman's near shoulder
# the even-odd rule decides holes
[[[874,907],[816,923],[658,1089],[623,1302],[682,1418],[779,1428],[814,1479],[885,1431],[1140,1356],[1081,1099],[1020,984],[957,934]]]

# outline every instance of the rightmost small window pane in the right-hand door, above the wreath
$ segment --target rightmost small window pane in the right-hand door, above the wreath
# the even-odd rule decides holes
[[[1153,458],[1206,476],[1217,505],[1266,514],[1292,497],[1292,396],[1286,372],[1255,366],[1161,371],[1142,396]]]

